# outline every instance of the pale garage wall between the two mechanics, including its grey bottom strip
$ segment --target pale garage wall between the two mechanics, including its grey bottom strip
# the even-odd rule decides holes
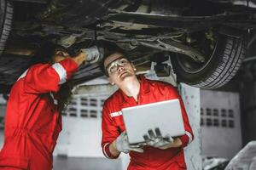
[[[102,104],[108,95],[74,95],[62,114],[62,131],[54,151],[54,170],[120,170],[121,159],[102,154]]]

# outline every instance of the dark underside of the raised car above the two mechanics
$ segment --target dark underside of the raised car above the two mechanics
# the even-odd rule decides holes
[[[236,75],[256,27],[256,2],[234,0],[1,0],[0,92],[6,94],[27,69],[42,42],[76,53],[115,44],[138,70],[157,63],[156,74],[197,88],[219,88]],[[79,84],[102,76],[98,64],[83,65]]]

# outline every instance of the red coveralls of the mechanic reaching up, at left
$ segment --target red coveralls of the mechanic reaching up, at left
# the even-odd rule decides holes
[[[61,132],[54,95],[77,65],[64,59],[54,65],[32,65],[15,82],[5,116],[0,169],[52,169],[52,152]]]

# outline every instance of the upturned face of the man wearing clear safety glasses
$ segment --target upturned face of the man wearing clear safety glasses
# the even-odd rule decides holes
[[[108,72],[109,82],[120,86],[126,80],[136,77],[135,67],[123,54],[111,54],[104,61],[104,68]]]

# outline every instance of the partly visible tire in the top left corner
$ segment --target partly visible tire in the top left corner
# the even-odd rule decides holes
[[[0,0],[0,55],[3,53],[5,43],[11,31],[13,18],[13,5],[8,0]]]

